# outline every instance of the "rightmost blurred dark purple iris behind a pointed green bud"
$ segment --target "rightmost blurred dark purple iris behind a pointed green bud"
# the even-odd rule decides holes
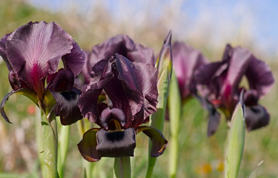
[[[249,90],[245,89],[244,93],[247,129],[258,129],[268,124],[269,114],[258,100],[269,92],[274,78],[269,66],[248,49],[227,45],[223,61],[201,66],[194,75],[200,85],[198,89],[209,103],[208,136],[214,134],[220,122],[216,108],[225,113],[227,120],[231,119],[243,89],[239,83],[244,75],[249,83]]]

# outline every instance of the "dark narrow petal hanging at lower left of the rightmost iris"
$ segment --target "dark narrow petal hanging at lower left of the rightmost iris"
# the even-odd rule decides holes
[[[219,124],[220,124],[220,114],[216,111],[215,108],[212,108],[211,111],[209,111],[209,120],[208,120],[208,131],[207,131],[207,136],[210,137],[212,136]]]

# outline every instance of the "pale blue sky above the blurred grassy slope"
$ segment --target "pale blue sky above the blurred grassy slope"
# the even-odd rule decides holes
[[[86,13],[91,10],[91,6],[94,3],[99,3],[94,0],[28,0],[33,5],[38,7],[47,8],[50,11],[61,11],[68,9],[70,4],[77,4],[77,8],[80,12]],[[179,12],[181,16],[187,17],[187,24],[185,28],[190,29],[195,26],[196,23],[201,23],[201,18],[211,26],[214,36],[217,38],[219,33],[222,35],[231,36],[232,31],[229,31],[229,27],[235,28],[240,25],[246,25],[248,23],[249,31],[255,39],[255,43],[266,52],[278,54],[278,1],[276,0],[187,0],[177,1],[173,3],[170,0],[105,0],[102,1],[112,12],[115,11],[115,20],[123,19],[123,12],[118,13],[119,10],[128,11],[129,13],[144,12],[146,8],[149,8],[150,3],[155,7],[152,10],[152,17],[154,19],[159,17],[163,13],[165,5],[169,6],[173,4],[179,4]],[[124,5],[124,7],[123,7]],[[152,7],[153,7],[152,6]],[[125,14],[127,15],[127,14]],[[190,17],[190,18],[188,18]],[[209,22],[208,22],[209,21]],[[181,22],[176,22],[181,23]],[[181,26],[181,24],[175,24]],[[225,34],[225,26],[227,34]]]

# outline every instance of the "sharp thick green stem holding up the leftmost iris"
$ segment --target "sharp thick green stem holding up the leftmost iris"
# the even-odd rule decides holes
[[[56,116],[51,112],[47,117],[41,114],[41,125],[44,132],[44,172],[46,178],[57,178],[57,125]]]

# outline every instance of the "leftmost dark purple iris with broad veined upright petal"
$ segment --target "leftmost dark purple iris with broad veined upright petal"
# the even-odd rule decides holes
[[[6,34],[0,40],[0,55],[10,71],[13,89],[1,102],[1,115],[6,121],[10,122],[4,105],[14,93],[27,96],[44,112],[57,104],[63,125],[82,119],[78,108],[81,91],[74,87],[74,77],[84,65],[85,55],[55,22],[29,22]],[[61,59],[64,68],[57,71]]]

